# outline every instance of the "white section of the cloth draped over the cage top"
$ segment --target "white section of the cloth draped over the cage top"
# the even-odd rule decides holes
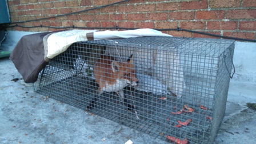
[[[87,41],[86,34],[93,33],[94,40],[114,39],[114,38],[134,38],[146,36],[169,36],[161,31],[153,29],[137,29],[125,31],[98,31],[98,30],[67,30],[51,34],[47,38],[47,58],[52,59],[63,53],[67,48],[75,42]]]

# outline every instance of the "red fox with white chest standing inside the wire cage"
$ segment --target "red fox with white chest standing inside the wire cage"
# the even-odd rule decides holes
[[[121,101],[124,101],[126,99],[123,94],[123,88],[126,86],[138,86],[139,82],[135,74],[133,54],[130,55],[126,62],[115,61],[114,57],[110,55],[101,55],[93,66],[93,74],[99,86],[97,97],[105,91],[116,92]],[[94,95],[87,109],[93,109],[96,101],[97,98]]]

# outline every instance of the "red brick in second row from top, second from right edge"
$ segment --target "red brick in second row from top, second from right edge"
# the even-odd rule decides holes
[[[195,11],[195,19],[224,19],[224,10]]]

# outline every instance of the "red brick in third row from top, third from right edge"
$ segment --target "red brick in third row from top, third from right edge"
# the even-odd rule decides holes
[[[181,29],[205,29],[205,21],[182,21],[179,23]]]

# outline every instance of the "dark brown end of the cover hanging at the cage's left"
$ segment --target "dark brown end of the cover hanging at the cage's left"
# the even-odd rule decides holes
[[[43,37],[47,33],[37,33],[23,36],[10,54],[16,69],[22,75],[24,82],[37,81],[39,72],[47,65]]]

